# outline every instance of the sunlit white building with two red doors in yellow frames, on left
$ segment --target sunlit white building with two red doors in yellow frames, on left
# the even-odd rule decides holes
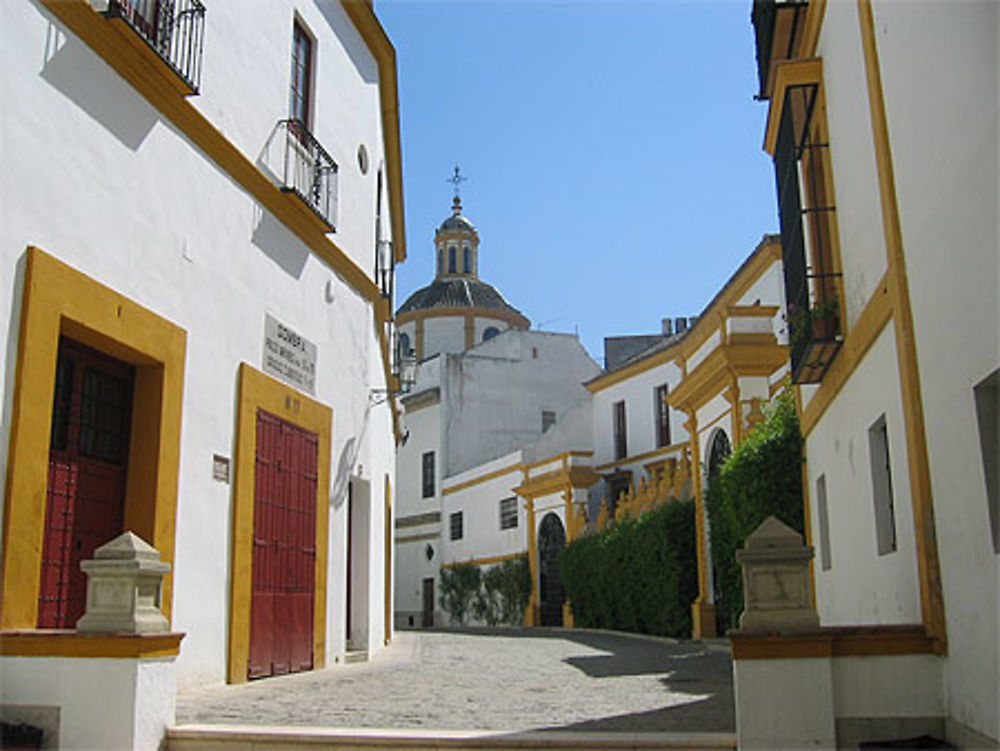
[[[391,636],[394,51],[370,3],[154,5],[3,7],[5,705],[120,656],[65,629],[123,530],[172,565],[182,685]]]

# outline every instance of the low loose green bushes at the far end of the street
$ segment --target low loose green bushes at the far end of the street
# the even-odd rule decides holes
[[[519,555],[489,568],[460,563],[441,569],[441,607],[452,621],[465,624],[471,614],[489,626],[519,624],[531,599],[531,568]]]

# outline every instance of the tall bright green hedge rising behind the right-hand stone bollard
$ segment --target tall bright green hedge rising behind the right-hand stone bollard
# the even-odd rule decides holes
[[[735,627],[743,610],[743,580],[736,551],[747,535],[774,515],[803,531],[802,436],[794,395],[785,389],[764,421],[739,445],[705,493],[711,526],[716,608]]]

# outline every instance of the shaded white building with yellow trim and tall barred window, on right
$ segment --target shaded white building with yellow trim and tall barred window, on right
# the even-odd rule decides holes
[[[996,748],[1000,6],[754,23],[822,630],[734,641],[741,745]]]

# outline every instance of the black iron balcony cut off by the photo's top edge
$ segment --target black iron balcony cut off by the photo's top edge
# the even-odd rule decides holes
[[[198,93],[205,38],[201,0],[108,0],[104,15],[127,23],[187,85],[186,93]]]

